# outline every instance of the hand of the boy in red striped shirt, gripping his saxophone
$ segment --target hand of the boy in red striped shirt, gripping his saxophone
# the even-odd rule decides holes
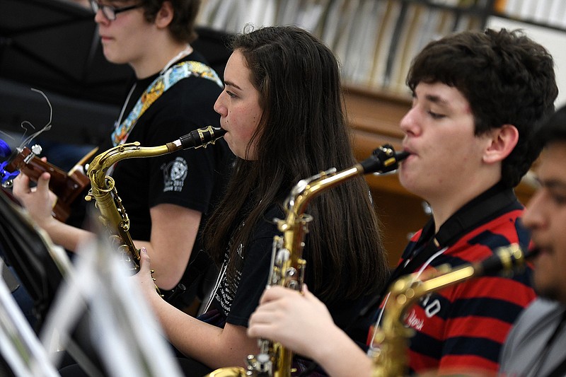
[[[341,331],[328,309],[308,291],[302,294],[282,286],[270,286],[262,294],[260,306],[250,316],[248,335],[280,342],[294,352],[313,358],[327,335]]]

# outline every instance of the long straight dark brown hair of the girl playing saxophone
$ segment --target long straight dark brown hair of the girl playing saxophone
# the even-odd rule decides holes
[[[231,255],[238,245],[247,245],[265,210],[280,204],[296,182],[356,163],[340,71],[328,47],[305,30],[287,26],[236,35],[231,47],[246,59],[263,114],[249,144],[255,143],[257,159],[236,159],[226,195],[204,230],[207,250],[218,263],[229,240]],[[316,197],[306,212],[313,216],[306,246],[313,292],[332,299],[339,291],[344,298],[357,298],[378,290],[387,263],[364,178]]]

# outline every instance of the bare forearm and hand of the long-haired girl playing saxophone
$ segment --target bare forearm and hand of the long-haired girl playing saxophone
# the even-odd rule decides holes
[[[245,327],[226,323],[222,329],[209,325],[163,301],[154,289],[149,255],[143,250],[140,262],[141,268],[135,279],[154,308],[168,340],[180,352],[212,369],[244,366],[248,354],[258,353],[257,342],[246,335]]]

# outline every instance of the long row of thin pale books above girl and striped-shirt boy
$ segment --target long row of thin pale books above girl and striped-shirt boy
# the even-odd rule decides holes
[[[197,23],[240,33],[245,25],[297,25],[323,40],[345,83],[407,93],[412,57],[427,42],[480,28],[485,0],[205,0]]]

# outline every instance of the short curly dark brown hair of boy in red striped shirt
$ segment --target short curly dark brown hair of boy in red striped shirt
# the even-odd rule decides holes
[[[513,124],[519,141],[502,163],[514,187],[540,149],[529,145],[538,122],[554,112],[558,95],[553,57],[521,30],[467,30],[430,42],[412,62],[407,85],[444,83],[470,103],[475,134]]]

